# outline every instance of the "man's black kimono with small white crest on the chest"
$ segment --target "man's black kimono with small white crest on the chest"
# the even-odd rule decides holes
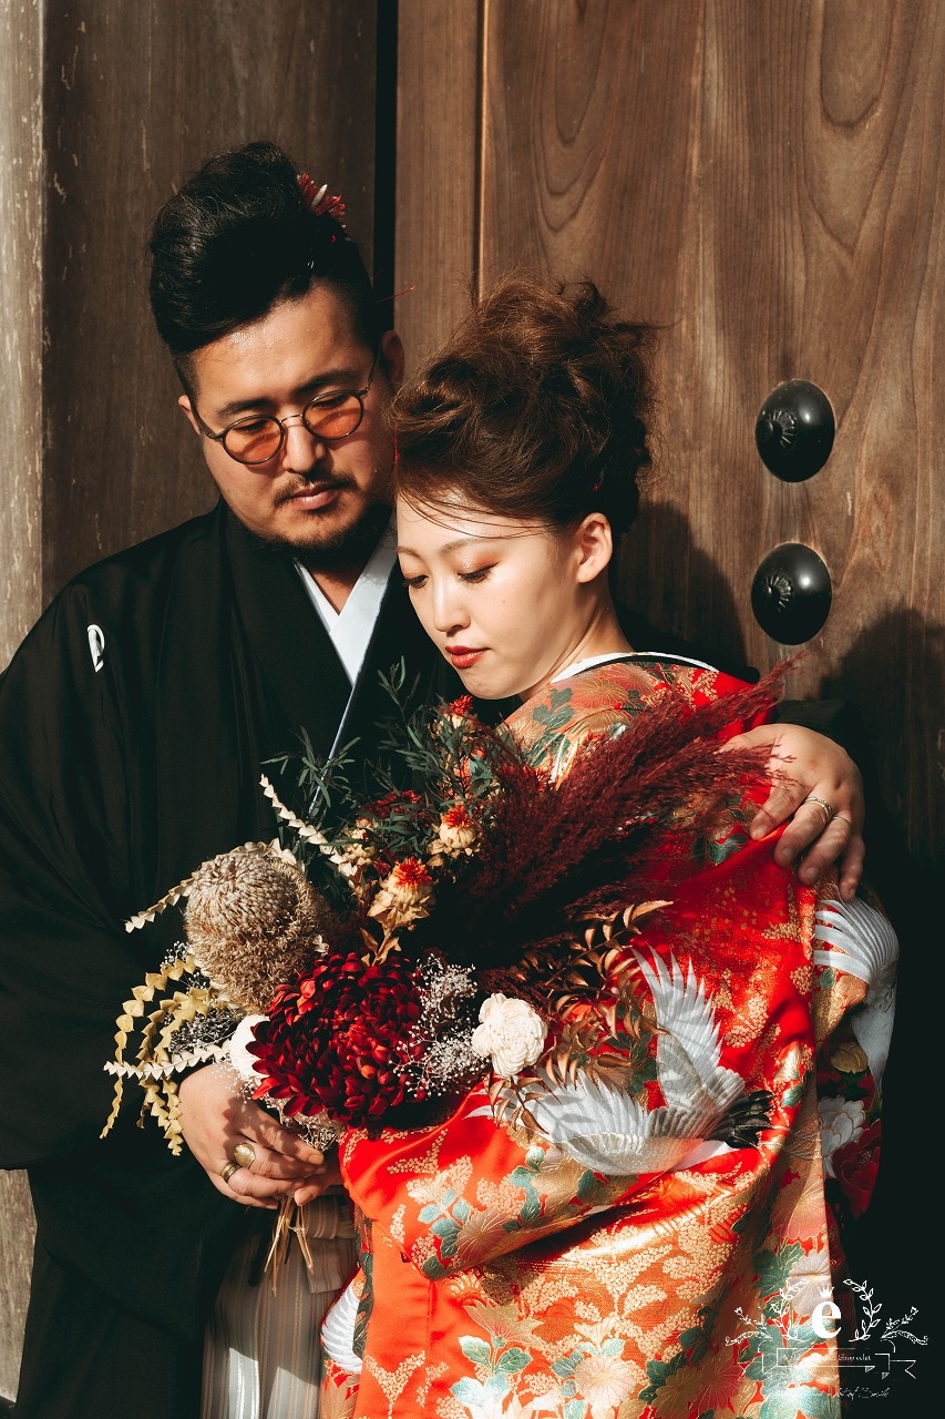
[[[402,656],[433,677],[394,573],[345,739],[390,712],[376,671]],[[0,681],[0,1165],[28,1168],[38,1223],[23,1419],[199,1412],[245,1215],[133,1105],[99,1142],[121,1002],[180,931],[122,924],[275,836],[262,762],[301,727],[326,755],[348,695],[291,561],[223,505],[78,576]]]

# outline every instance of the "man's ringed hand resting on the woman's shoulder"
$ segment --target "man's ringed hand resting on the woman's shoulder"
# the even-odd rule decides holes
[[[793,813],[793,822],[775,849],[775,861],[780,867],[797,863],[797,876],[809,887],[837,863],[840,895],[850,901],[860,885],[866,857],[860,771],[833,739],[796,724],[766,724],[726,744],[729,749],[761,746],[769,748],[769,768],[783,778],[772,785],[755,815],[752,837],[766,837]],[[822,803],[831,809],[830,817]]]

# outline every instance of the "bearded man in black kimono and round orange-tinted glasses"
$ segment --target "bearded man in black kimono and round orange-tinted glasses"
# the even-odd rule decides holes
[[[152,308],[221,501],[75,578],[0,687],[0,1162],[28,1166],[38,1226],[20,1419],[194,1419],[227,1269],[204,1415],[306,1412],[291,1381],[270,1395],[257,1357],[308,1288],[255,1287],[248,1317],[241,1298],[250,1223],[287,1192],[321,1196],[331,1164],[217,1066],[180,1088],[187,1156],[132,1117],[98,1134],[115,1016],[173,935],[170,914],[132,935],[123,921],[201,860],[272,837],[260,766],[301,729],[325,756],[363,744],[379,670],[403,657],[429,695],[441,671],[387,536],[403,350],[338,219],[264,143],[211,159],[158,216]],[[846,815],[814,874],[860,826],[837,762],[827,751],[770,803],[778,819],[810,793]],[[820,823],[805,807],[782,850]],[[847,883],[858,860],[857,832]],[[309,1337],[349,1247],[338,1203],[316,1218],[321,1297],[294,1317]],[[227,1325],[254,1334],[226,1341]],[[241,1347],[248,1374],[230,1368]]]

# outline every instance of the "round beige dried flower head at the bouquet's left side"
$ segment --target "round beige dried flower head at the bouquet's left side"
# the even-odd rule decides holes
[[[184,911],[201,971],[234,1005],[258,1013],[277,986],[314,962],[332,925],[328,902],[302,868],[264,843],[204,863]]]

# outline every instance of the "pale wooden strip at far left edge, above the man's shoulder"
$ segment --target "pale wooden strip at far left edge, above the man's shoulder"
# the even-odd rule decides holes
[[[35,0],[0,9],[0,667],[41,604],[43,30]]]

